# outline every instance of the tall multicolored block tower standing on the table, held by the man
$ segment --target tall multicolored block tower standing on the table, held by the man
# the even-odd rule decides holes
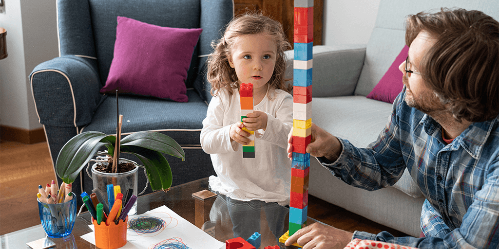
[[[294,0],[293,161],[289,231],[279,240],[282,243],[307,221],[310,154],[305,148],[312,129],[312,43],[313,0]]]

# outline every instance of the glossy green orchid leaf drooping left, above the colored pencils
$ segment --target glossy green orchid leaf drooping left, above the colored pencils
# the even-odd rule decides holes
[[[113,135],[106,135],[98,131],[80,133],[62,147],[55,162],[55,173],[65,183],[72,183],[81,169],[95,155],[102,146],[115,141]]]

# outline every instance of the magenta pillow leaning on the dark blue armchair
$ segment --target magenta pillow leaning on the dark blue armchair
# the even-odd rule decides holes
[[[187,70],[201,28],[160,27],[118,16],[114,57],[101,93],[187,102]]]

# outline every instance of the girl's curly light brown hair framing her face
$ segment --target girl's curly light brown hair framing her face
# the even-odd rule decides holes
[[[281,89],[290,93],[293,86],[286,84],[284,72],[286,70],[286,59],[284,51],[291,49],[291,44],[282,29],[282,25],[276,20],[264,16],[262,13],[245,13],[235,17],[227,24],[224,36],[219,40],[214,40],[211,46],[214,48],[213,53],[208,56],[208,74],[207,78],[212,89],[212,96],[217,96],[218,90],[226,87],[232,94],[232,89],[238,89],[239,83],[236,70],[229,65],[229,57],[231,56],[234,42],[238,36],[247,34],[266,33],[275,41],[277,47],[276,60],[274,71],[268,84],[270,91]]]

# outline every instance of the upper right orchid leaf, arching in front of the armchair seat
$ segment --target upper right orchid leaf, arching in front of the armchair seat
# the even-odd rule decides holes
[[[151,149],[181,158],[182,161],[185,160],[185,152],[182,147],[173,138],[163,133],[148,131],[135,132],[121,139],[120,146],[126,145]]]

